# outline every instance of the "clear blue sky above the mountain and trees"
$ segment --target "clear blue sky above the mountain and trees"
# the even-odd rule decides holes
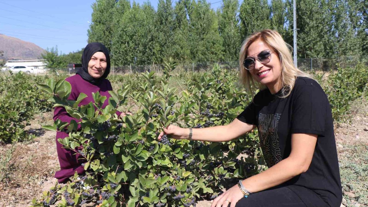
[[[146,0],[136,0],[142,4]],[[211,7],[219,0],[207,0]],[[43,49],[57,46],[69,53],[87,44],[91,5],[95,0],[0,0],[0,34],[33,42]],[[157,8],[157,0],[151,0]]]

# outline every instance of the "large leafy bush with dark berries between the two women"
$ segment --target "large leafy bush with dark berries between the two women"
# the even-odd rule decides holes
[[[71,86],[66,81],[40,85],[52,95],[56,106],[64,106],[76,122],[57,121],[49,130],[65,130],[69,137],[59,142],[85,160],[84,175],[75,174],[66,185],[56,185],[43,193],[32,206],[195,206],[196,200],[210,198],[221,192],[226,180],[244,178],[258,173],[263,166],[258,158],[256,131],[228,143],[174,140],[157,137],[164,126],[214,126],[227,124],[250,101],[226,71],[215,67],[212,74],[201,74],[199,83],[187,82],[187,90],[178,93],[169,87],[173,60],[165,63],[163,75],[142,73],[140,88],[131,91],[123,86],[102,109],[106,97],[93,94],[94,102],[86,106],[67,100]],[[217,77],[214,77],[214,74]],[[212,77],[210,77],[212,76]],[[235,78],[235,76],[234,76]],[[159,81],[159,83],[157,82]],[[193,84],[193,85],[191,85]],[[220,94],[217,90],[223,90]],[[138,108],[123,120],[114,115],[119,106],[131,99]],[[95,111],[95,108],[97,109]],[[207,110],[208,109],[208,110]],[[205,114],[202,112],[206,112]],[[237,158],[251,148],[254,156]],[[246,167],[248,166],[248,167]]]

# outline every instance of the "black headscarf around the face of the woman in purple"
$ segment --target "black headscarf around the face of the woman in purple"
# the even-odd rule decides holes
[[[88,73],[88,63],[89,63],[89,60],[91,60],[91,57],[96,52],[103,52],[103,54],[105,54],[105,56],[106,56],[106,63],[107,63],[107,67],[106,67],[105,73],[101,77],[99,77],[99,78],[93,78]],[[78,70],[77,71],[77,74],[79,76],[81,76],[84,80],[88,81],[89,83],[92,83],[93,85],[99,85],[101,83],[101,81],[103,79],[105,79],[109,75],[109,73],[110,73],[110,55],[109,55],[109,50],[102,43],[99,43],[99,42],[89,43],[84,48],[84,50],[83,50],[83,54],[82,54],[82,69],[81,70]]]

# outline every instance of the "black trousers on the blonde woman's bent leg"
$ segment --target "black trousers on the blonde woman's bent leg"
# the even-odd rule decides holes
[[[230,206],[230,205],[229,205]],[[240,199],[236,207],[307,207],[288,187],[274,187]]]

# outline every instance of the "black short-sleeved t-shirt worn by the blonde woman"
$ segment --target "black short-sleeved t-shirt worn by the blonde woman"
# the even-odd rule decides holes
[[[321,206],[318,197],[331,207],[339,207],[342,190],[337,161],[330,104],[321,86],[311,78],[298,77],[291,94],[280,98],[280,91],[268,89],[255,95],[237,117],[258,127],[263,156],[269,167],[289,157],[291,134],[317,134],[317,143],[308,170],[284,185],[293,190],[307,206]]]

